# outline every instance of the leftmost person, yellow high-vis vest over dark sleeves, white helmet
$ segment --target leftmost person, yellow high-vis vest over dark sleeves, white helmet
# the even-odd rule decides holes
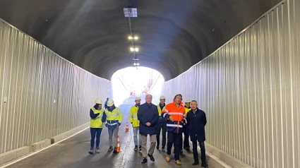
[[[102,100],[97,99],[95,106],[90,109],[90,155],[94,152],[99,153],[100,135],[103,128],[103,123],[106,121],[106,114],[102,109]],[[96,150],[94,150],[96,137]]]

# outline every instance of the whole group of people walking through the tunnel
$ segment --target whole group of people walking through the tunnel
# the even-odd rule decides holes
[[[160,150],[160,133],[162,133],[162,151],[165,151],[167,145],[166,161],[170,162],[172,147],[174,146],[175,163],[181,165],[180,155],[183,153],[183,148],[190,150],[189,139],[193,144],[193,165],[198,165],[197,146],[200,144],[201,150],[201,166],[208,167],[205,157],[205,112],[198,109],[196,100],[186,100],[185,106],[182,102],[182,95],[175,95],[173,102],[165,104],[165,97],[160,97],[160,104],[152,104],[152,95],[146,95],[145,103],[140,104],[140,97],[136,97],[136,104],[131,107],[128,120],[133,126],[133,140],[135,148],[133,150],[141,150],[143,155],[142,164],[148,162],[148,157],[152,162],[155,162],[153,153],[155,145],[157,150]],[[107,99],[107,108],[101,109],[102,101],[96,100],[96,104],[90,110],[90,133],[91,147],[90,154],[100,152],[98,138],[102,131],[102,124],[106,122],[109,130],[109,151],[116,152],[116,136],[119,126],[123,120],[123,114],[119,108],[114,107],[112,100]],[[95,122],[100,124],[101,131],[95,131]],[[97,129],[97,128],[96,128]],[[97,134],[95,136],[95,133]],[[184,134],[184,139],[182,138]],[[147,152],[147,137],[150,136],[150,149]],[[166,137],[167,136],[167,137]],[[94,149],[96,137],[96,150]],[[114,144],[112,138],[114,137]]]

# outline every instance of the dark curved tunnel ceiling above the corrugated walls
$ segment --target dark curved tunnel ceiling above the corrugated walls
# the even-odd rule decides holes
[[[280,0],[0,0],[0,18],[91,73],[110,80],[133,66],[131,18],[140,66],[175,78]]]

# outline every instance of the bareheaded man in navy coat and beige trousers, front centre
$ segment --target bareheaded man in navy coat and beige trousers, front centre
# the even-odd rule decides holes
[[[155,124],[158,120],[157,106],[152,104],[152,95],[146,95],[146,102],[138,107],[138,120],[140,121],[140,136],[142,139],[142,164],[147,163],[147,136],[150,135],[150,149],[148,156],[154,162],[153,152],[155,150],[155,141],[157,128]]]

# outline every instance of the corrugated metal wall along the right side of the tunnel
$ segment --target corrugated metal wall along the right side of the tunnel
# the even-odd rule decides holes
[[[168,100],[198,100],[207,143],[253,167],[300,167],[300,1],[284,1],[181,76]]]

